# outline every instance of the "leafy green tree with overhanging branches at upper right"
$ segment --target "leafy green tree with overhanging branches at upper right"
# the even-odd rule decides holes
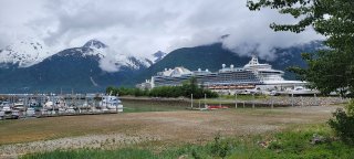
[[[309,67],[291,67],[302,80],[327,94],[354,89],[354,1],[353,0],[249,0],[250,10],[271,8],[299,19],[294,24],[270,24],[274,31],[300,33],[312,26],[326,38],[325,50],[303,53]]]

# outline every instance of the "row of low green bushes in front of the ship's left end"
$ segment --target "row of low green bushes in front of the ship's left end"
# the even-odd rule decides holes
[[[160,86],[155,87],[150,91],[139,89],[139,88],[125,88],[125,87],[113,87],[108,86],[106,88],[107,94],[112,95],[132,95],[132,96],[150,96],[150,97],[190,97],[192,94],[194,98],[202,98],[205,95],[210,97],[218,97],[217,93],[211,92],[210,89],[205,89],[198,86],[198,82],[195,77],[186,81],[181,86]]]

